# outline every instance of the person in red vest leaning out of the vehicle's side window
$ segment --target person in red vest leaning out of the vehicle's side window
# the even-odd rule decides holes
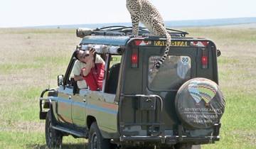
[[[92,91],[102,90],[104,79],[105,62],[100,55],[96,55],[95,49],[75,50],[75,57],[82,63],[79,67],[80,77],[84,79],[87,86]],[[77,69],[78,72],[78,69]]]

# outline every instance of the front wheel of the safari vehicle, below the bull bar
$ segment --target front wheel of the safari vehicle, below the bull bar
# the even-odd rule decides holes
[[[53,129],[53,118],[50,110],[46,115],[46,145],[48,148],[61,148],[63,135],[60,131]]]

